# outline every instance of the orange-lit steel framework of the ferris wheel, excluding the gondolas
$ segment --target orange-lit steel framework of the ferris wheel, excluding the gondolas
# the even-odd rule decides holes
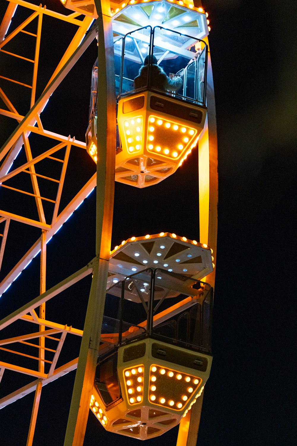
[[[6,81],[11,83],[17,83],[28,89],[30,93],[30,109],[26,116],[22,116],[18,113],[16,107],[9,99],[8,95],[0,89],[0,98],[3,100],[6,109],[0,109],[0,115],[10,117],[14,119],[17,123],[15,131],[12,133],[10,138],[6,141],[3,147],[0,149],[0,185],[13,192],[18,192],[23,195],[29,195],[34,197],[36,202],[36,208],[38,212],[38,219],[32,219],[28,216],[16,215],[11,212],[5,211],[5,209],[0,209],[0,224],[4,224],[3,233],[0,234],[0,268],[4,256],[4,249],[8,234],[8,228],[10,220],[15,220],[33,227],[41,229],[40,238],[32,245],[28,252],[16,263],[12,268],[10,273],[4,278],[0,283],[0,295],[8,289],[12,282],[20,275],[27,264],[41,252],[40,258],[40,295],[29,302],[27,305],[23,306],[19,310],[10,314],[7,318],[0,321],[0,330],[4,327],[11,325],[16,321],[30,322],[30,324],[36,324],[38,330],[34,333],[25,333],[21,336],[15,336],[8,339],[0,340],[0,349],[12,352],[16,357],[24,355],[19,351],[11,350],[9,344],[31,344],[37,347],[38,357],[32,357],[38,363],[38,368],[28,369],[23,368],[16,363],[4,363],[0,362],[0,381],[4,374],[4,371],[15,371],[24,373],[26,375],[35,378],[33,382],[23,386],[22,388],[10,393],[0,400],[0,409],[13,401],[20,399],[21,397],[27,395],[28,393],[35,392],[31,421],[29,425],[27,446],[32,445],[34,429],[37,419],[39,401],[41,397],[42,386],[49,384],[51,381],[65,375],[75,368],[77,368],[77,377],[74,384],[73,398],[70,408],[69,422],[67,426],[65,445],[82,445],[86,417],[88,413],[89,400],[90,400],[90,388],[94,380],[94,363],[96,362],[98,355],[98,340],[100,339],[102,314],[104,307],[104,297],[105,296],[105,277],[107,278],[108,270],[108,260],[109,260],[109,250],[110,250],[110,229],[111,227],[110,219],[112,219],[112,203],[114,194],[114,160],[112,156],[106,160],[106,145],[112,143],[112,139],[115,135],[110,133],[107,129],[107,123],[102,120],[102,140],[98,140],[98,145],[101,145],[99,150],[102,151],[102,163],[98,163],[97,176],[94,174],[81,188],[81,190],[76,194],[76,196],[68,203],[65,208],[60,211],[59,204],[61,199],[61,194],[63,190],[64,178],[67,169],[67,162],[69,159],[69,153],[72,146],[76,146],[80,149],[85,149],[85,143],[78,141],[75,137],[63,136],[57,133],[50,132],[46,130],[41,121],[41,113],[49,100],[50,95],[55,91],[57,86],[65,78],[66,74],[71,70],[75,62],[80,58],[81,54],[88,48],[91,41],[94,40],[98,33],[98,20],[95,22],[93,27],[90,29],[89,33],[86,34],[89,29],[93,19],[90,17],[85,17],[83,20],[77,19],[79,17],[78,13],[72,13],[68,16],[59,14],[54,11],[49,11],[45,7],[35,6],[24,0],[7,0],[8,7],[4,15],[4,19],[0,25],[0,52],[6,52],[13,58],[25,57],[20,54],[12,54],[5,50],[5,45],[13,39],[18,33],[28,33],[25,30],[26,26],[31,23],[34,19],[37,19],[37,31],[32,37],[36,38],[35,52],[32,59],[25,58],[28,62],[33,64],[33,79],[32,85],[25,84],[16,79],[4,78]],[[200,2],[195,1],[195,4]],[[104,26],[99,25],[99,42],[109,42],[110,37],[112,41],[112,33],[110,33],[111,21],[110,21],[110,7],[107,0],[95,0],[97,10],[99,12],[99,18],[103,17]],[[32,14],[19,25],[12,33],[6,33],[11,21],[11,18],[16,11],[17,6],[28,8],[31,10]],[[102,8],[102,12],[100,11]],[[42,31],[42,18],[44,15],[48,15],[57,20],[67,21],[73,25],[77,25],[78,29],[73,36],[68,48],[65,50],[63,57],[58,63],[56,69],[54,70],[52,76],[49,78],[47,86],[43,91],[39,99],[35,99],[36,85],[37,85],[37,74],[38,74],[38,60],[40,53],[40,42],[41,42],[41,31]],[[100,35],[101,32],[101,35]],[[33,34],[33,33],[31,33]],[[86,35],[85,35],[86,34]],[[109,42],[110,43],[110,42]],[[111,45],[113,46],[113,45]],[[113,49],[112,51],[107,51],[108,45],[99,45],[98,47],[98,60],[100,60],[102,66],[101,76],[106,79],[106,73],[110,73],[111,61],[113,63]],[[110,74],[109,74],[110,76]],[[110,76],[111,77],[111,76]],[[104,97],[106,104],[112,102],[111,98],[108,97],[106,90],[106,83],[102,83],[101,98]],[[102,96],[103,95],[103,96]],[[199,215],[200,215],[200,240],[203,243],[207,243],[212,246],[214,262],[216,262],[216,232],[217,232],[217,140],[216,140],[216,116],[215,116],[215,105],[214,105],[214,95],[213,95],[213,82],[212,82],[212,68],[210,56],[208,57],[208,81],[207,81],[207,108],[208,116],[203,134],[199,139]],[[111,120],[115,121],[115,107],[114,110],[108,110],[107,114],[111,117]],[[107,119],[107,115],[106,115]],[[114,125],[115,128],[115,125]],[[38,155],[33,157],[32,150],[29,142],[29,136],[31,133],[35,133],[40,136],[45,136],[55,142],[51,149],[48,149]],[[98,131],[98,134],[99,131]],[[19,166],[16,169],[10,170],[12,167],[12,162],[16,159],[20,150],[24,146],[24,152],[26,155],[27,162]],[[111,144],[115,146],[115,144]],[[60,157],[53,156],[59,150],[64,149],[65,154],[63,159]],[[105,153],[104,153],[105,150]],[[45,158],[51,159],[55,162],[61,162],[61,175],[60,179],[54,179],[50,176],[41,176],[36,172],[36,165],[39,161]],[[106,164],[107,163],[107,164]],[[107,176],[105,173],[105,166]],[[103,170],[102,170],[103,169]],[[102,174],[102,172],[104,173]],[[16,190],[12,186],[8,186],[7,182],[10,178],[16,177],[19,173],[26,172],[30,175],[33,192],[28,192],[24,190]],[[55,197],[48,198],[42,197],[39,192],[38,179],[42,177],[48,181],[55,182],[58,184],[58,190]],[[103,178],[103,179],[102,179]],[[67,277],[64,281],[58,283],[53,288],[46,291],[45,282],[45,271],[46,271],[46,243],[50,238],[57,232],[57,230],[67,221],[69,216],[77,209],[81,202],[90,194],[90,192],[97,188],[97,210],[100,211],[101,221],[97,221],[96,230],[96,257],[90,261],[84,268]],[[112,185],[113,184],[113,185]],[[43,202],[50,201],[54,203],[53,215],[50,222],[46,222],[45,213],[43,210]],[[109,211],[107,211],[107,208]],[[2,240],[2,241],[1,241]],[[90,290],[90,299],[86,315],[84,330],[78,330],[72,326],[61,325],[53,321],[45,319],[45,302],[49,301],[52,297],[61,293],[65,289],[69,288],[71,285],[77,283],[84,277],[93,274],[93,280]],[[204,278],[212,286],[214,286],[215,273],[208,275]],[[203,279],[202,279],[203,280]],[[101,284],[101,288],[100,288]],[[103,286],[102,286],[103,284]],[[98,299],[98,296],[100,299]],[[96,307],[96,298],[99,301]],[[103,307],[102,307],[103,302]],[[38,310],[39,309],[39,310]],[[39,314],[38,314],[39,311]],[[96,314],[97,321],[94,321],[92,317]],[[27,326],[31,326],[27,324]],[[83,336],[85,333],[85,336]],[[65,342],[66,335],[75,335],[82,337],[81,352],[80,352],[80,363],[78,358],[73,358],[68,363],[65,363],[61,367],[56,367],[57,360],[61,353],[61,349]],[[58,336],[58,337],[57,337]],[[84,341],[86,339],[89,343],[90,338],[92,339],[91,347],[86,345]],[[32,340],[38,341],[37,343],[31,343],[28,341]],[[57,342],[57,347],[55,349],[49,349],[45,346],[45,340],[52,339]],[[102,346],[104,348],[104,345]],[[45,360],[45,351],[51,351],[53,353],[52,361]],[[28,355],[27,355],[28,356]],[[94,362],[95,361],[95,362]],[[49,372],[45,373],[45,363],[50,362]],[[85,385],[87,383],[87,385]],[[84,386],[84,390],[82,388]],[[193,406],[192,410],[187,413],[180,423],[179,436],[177,440],[177,445],[187,445],[194,446],[196,444],[199,419],[201,413],[203,394],[197,401],[196,405]],[[79,408],[82,407],[82,410]]]

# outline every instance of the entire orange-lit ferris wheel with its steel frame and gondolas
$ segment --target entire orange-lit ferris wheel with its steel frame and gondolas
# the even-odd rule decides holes
[[[91,413],[107,434],[142,440],[179,425],[177,444],[194,446],[212,363],[216,268],[207,12],[198,0],[52,0],[51,9],[37,1],[6,3],[0,302],[9,311],[0,316],[0,409],[34,393],[27,445],[34,444],[42,388],[77,369],[65,445],[83,444]],[[79,61],[88,66],[76,70]],[[71,98],[67,74],[75,86]],[[87,112],[86,83],[84,140],[63,132],[75,130]],[[131,188],[154,195],[155,185],[162,188],[191,162],[192,151],[198,152],[199,241],[173,232],[145,235],[139,227],[111,250],[114,181],[125,185],[126,199]],[[78,223],[71,226],[90,194],[96,227],[86,216],[83,225],[92,233],[93,257]],[[68,258],[78,249],[74,271],[60,260],[63,239],[73,245]],[[79,310],[73,316],[82,318],[82,329],[68,314],[88,295],[85,317]],[[65,296],[70,305],[63,307]]]

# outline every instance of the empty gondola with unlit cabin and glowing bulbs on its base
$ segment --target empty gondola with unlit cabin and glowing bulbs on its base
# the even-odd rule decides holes
[[[212,289],[199,280],[212,269],[207,245],[169,233],[111,253],[90,400],[106,430],[156,437],[195,404],[212,363]]]

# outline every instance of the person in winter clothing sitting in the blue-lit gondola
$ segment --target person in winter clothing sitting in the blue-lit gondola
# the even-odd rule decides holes
[[[146,87],[148,82],[148,67],[150,56],[146,56],[143,66],[140,68],[138,76],[134,79],[134,88]],[[180,76],[171,74],[167,76],[163,68],[157,65],[155,56],[151,56],[151,87],[159,88],[160,90],[178,91],[182,86],[183,80]]]

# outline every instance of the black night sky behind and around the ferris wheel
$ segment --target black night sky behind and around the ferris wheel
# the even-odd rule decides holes
[[[46,4],[65,13],[57,1]],[[296,3],[209,0],[203,6],[212,28],[209,43],[218,125],[219,224],[214,359],[204,391],[197,444],[295,445],[296,386],[291,378],[296,298],[297,37],[292,23]],[[52,28],[42,47],[40,91],[48,72],[53,71],[52,61],[62,51],[58,44],[61,34],[53,21],[49,23]],[[68,32],[65,26],[65,38]],[[91,45],[51,97],[41,115],[45,128],[84,140],[96,51],[96,45]],[[25,103],[23,108],[20,112],[25,112]],[[8,132],[9,122],[8,118],[0,121],[0,125],[4,123],[2,135]],[[196,152],[191,161],[188,158],[173,176],[144,190],[116,183],[112,246],[132,235],[160,231],[197,239]],[[65,186],[71,196],[94,171],[94,165],[79,150],[69,162],[72,170]],[[94,204],[93,192],[48,244],[47,288],[94,256]],[[8,239],[9,254],[0,280],[38,236],[38,231],[30,229],[29,234],[21,224],[12,222],[12,226],[15,235]],[[38,277],[38,261],[33,261],[1,297],[0,317],[38,295],[33,277]],[[81,285],[65,294],[59,303],[63,317],[59,314],[58,322],[82,328],[86,288]],[[55,320],[51,306],[49,314]],[[34,446],[63,444],[73,378],[70,373],[42,390]],[[19,387],[21,379],[13,374]],[[3,378],[0,397],[5,395],[4,384],[12,382]],[[33,394],[0,411],[0,446],[25,444],[32,402]],[[150,446],[174,445],[176,435],[175,428],[147,442]],[[84,445],[102,441],[137,444],[137,440],[106,433],[90,414]]]

